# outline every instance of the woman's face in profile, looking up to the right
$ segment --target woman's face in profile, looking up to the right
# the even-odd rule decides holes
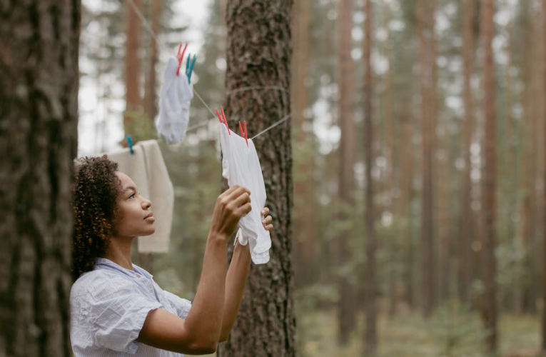
[[[149,236],[156,231],[151,215],[151,202],[138,193],[136,184],[129,176],[116,171],[121,181],[121,194],[118,196],[119,218],[116,222],[116,235],[121,237]]]

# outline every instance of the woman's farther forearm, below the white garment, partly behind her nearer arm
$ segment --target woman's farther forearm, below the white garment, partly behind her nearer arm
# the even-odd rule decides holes
[[[228,339],[235,323],[239,306],[245,291],[246,278],[251,266],[250,244],[241,246],[237,243],[233,249],[233,257],[226,276],[226,298],[223,308],[222,331],[220,341]]]

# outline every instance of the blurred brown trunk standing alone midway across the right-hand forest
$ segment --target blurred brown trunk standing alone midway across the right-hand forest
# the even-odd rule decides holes
[[[428,1],[418,0],[418,27],[420,49],[421,125],[423,141],[423,202],[422,202],[422,308],[428,317],[434,308],[434,221],[433,221],[433,26],[430,24]]]

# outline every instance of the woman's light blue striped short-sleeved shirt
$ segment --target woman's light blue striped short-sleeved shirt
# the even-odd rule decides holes
[[[183,357],[138,343],[138,333],[156,308],[186,318],[190,301],[161,289],[152,275],[97,258],[70,291],[70,339],[75,357]]]

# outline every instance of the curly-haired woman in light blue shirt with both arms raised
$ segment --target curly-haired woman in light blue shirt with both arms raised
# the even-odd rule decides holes
[[[206,354],[226,341],[243,296],[251,255],[226,249],[251,193],[233,186],[218,196],[206,241],[201,281],[190,303],[163,291],[131,263],[131,242],[155,231],[151,202],[106,156],[81,159],[74,186],[71,344],[79,356]],[[273,230],[263,208],[264,229]]]

